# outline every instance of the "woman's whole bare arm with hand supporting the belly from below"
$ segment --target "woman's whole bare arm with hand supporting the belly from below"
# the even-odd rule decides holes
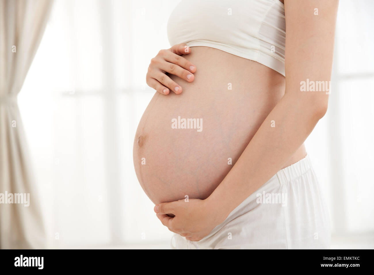
[[[319,15],[314,15],[318,8]],[[306,79],[331,79],[338,0],[285,1],[285,95],[224,180],[206,199],[161,203],[157,217],[172,232],[199,241],[281,169],[327,111],[326,92],[301,92]],[[277,126],[271,128],[270,120]],[[167,214],[172,213],[174,217]]]

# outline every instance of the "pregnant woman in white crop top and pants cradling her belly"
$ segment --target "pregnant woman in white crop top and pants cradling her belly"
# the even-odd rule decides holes
[[[304,141],[327,111],[338,0],[182,0],[134,141],[174,248],[329,248]]]

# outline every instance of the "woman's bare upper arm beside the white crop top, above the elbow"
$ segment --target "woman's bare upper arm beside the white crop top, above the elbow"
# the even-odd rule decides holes
[[[331,80],[338,0],[285,0],[286,93],[327,109],[325,91],[300,91],[300,82]],[[317,15],[318,13],[318,15]],[[329,87],[328,87],[329,88]],[[325,88],[326,89],[326,88]],[[316,88],[318,90],[318,87]]]

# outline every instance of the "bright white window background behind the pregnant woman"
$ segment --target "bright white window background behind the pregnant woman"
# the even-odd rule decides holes
[[[177,3],[55,1],[18,98],[51,248],[168,248],[132,144]],[[373,13],[374,1],[340,0],[329,109],[306,142],[332,248],[374,248]]]

